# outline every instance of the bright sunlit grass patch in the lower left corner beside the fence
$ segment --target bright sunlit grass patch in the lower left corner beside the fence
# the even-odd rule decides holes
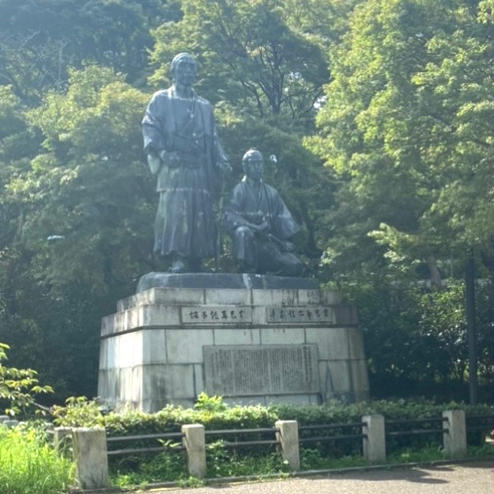
[[[61,494],[74,480],[70,460],[47,444],[34,428],[0,427],[0,492],[2,494]]]

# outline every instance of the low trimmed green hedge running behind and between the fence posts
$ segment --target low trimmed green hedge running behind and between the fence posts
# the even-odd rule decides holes
[[[493,415],[494,407],[488,405],[470,406],[463,403],[437,404],[427,400],[379,400],[345,404],[331,401],[323,406],[226,406],[220,397],[201,395],[194,408],[166,406],[157,413],[127,412],[102,415],[94,402],[83,398],[68,400],[66,407],[56,409],[58,425],[94,426],[101,425],[109,436],[128,436],[163,432],[179,432],[183,424],[203,424],[207,431],[224,429],[273,428],[278,419],[297,420],[300,438],[328,438],[301,444],[303,469],[336,468],[365,464],[362,458],[362,440],[348,438],[331,439],[331,436],[359,434],[362,432],[363,415],[381,414],[388,423],[387,430],[397,430],[393,421],[406,419],[437,419],[444,410],[463,409],[468,417]],[[341,424],[335,429],[304,430],[306,425]],[[400,424],[399,430],[439,428],[436,422],[424,424]],[[480,445],[482,432],[468,434],[469,445]],[[207,466],[208,477],[237,475],[280,474],[287,471],[274,445],[243,446],[233,449],[228,442],[274,439],[274,432],[239,432],[235,434],[208,434]],[[166,480],[189,482],[185,469],[183,452],[173,450],[180,446],[180,440],[140,439],[110,443],[111,449],[156,447],[162,444],[167,449],[161,453],[131,453],[125,456],[110,456],[110,470],[113,482],[120,486]],[[440,457],[442,434],[393,436],[387,439],[387,451],[396,458],[412,458],[421,451],[436,451]]]

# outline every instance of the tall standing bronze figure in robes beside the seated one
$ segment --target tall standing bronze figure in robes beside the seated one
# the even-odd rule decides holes
[[[192,88],[196,72],[191,55],[175,56],[173,85],[153,95],[142,120],[144,151],[160,195],[154,252],[171,256],[174,273],[199,271],[202,260],[215,255],[213,197],[220,172],[231,170],[213,108]]]

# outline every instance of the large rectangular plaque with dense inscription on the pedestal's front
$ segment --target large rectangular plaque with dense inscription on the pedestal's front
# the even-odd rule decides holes
[[[203,351],[209,395],[319,392],[316,345],[205,346]]]

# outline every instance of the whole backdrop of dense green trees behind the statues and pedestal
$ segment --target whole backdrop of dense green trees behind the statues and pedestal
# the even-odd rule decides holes
[[[55,400],[94,395],[101,316],[166,268],[150,254],[139,121],[187,50],[234,168],[225,189],[248,147],[277,156],[266,180],[302,226],[304,260],[357,303],[376,396],[452,385],[448,398],[465,398],[467,248],[492,382],[493,10],[0,0],[0,341],[12,365],[38,369]]]

